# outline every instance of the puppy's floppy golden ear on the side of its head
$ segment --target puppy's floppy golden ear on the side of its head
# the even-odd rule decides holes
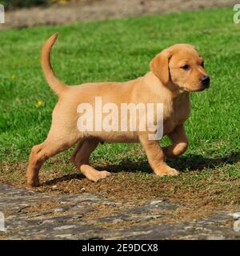
[[[150,62],[150,70],[163,84],[167,84],[170,80],[170,71],[168,66],[170,58],[170,51],[162,50],[162,52],[155,56]]]

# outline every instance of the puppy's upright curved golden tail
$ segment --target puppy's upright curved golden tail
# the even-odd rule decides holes
[[[63,90],[66,90],[67,86],[56,77],[50,63],[50,52],[57,38],[58,38],[58,33],[53,34],[46,41],[45,45],[42,47],[41,62],[42,62],[42,70],[45,75],[46,82],[49,84],[50,88],[54,90],[54,92],[58,96],[60,96]]]

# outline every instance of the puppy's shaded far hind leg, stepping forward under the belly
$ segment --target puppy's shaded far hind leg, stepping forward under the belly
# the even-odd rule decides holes
[[[92,182],[98,182],[101,178],[106,178],[110,176],[110,173],[106,170],[95,170],[90,166],[90,154],[98,146],[97,138],[86,138],[78,142],[78,146],[74,150],[71,159],[75,166],[81,170],[82,174],[86,176]]]

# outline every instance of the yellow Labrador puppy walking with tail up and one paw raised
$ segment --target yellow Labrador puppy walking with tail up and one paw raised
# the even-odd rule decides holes
[[[71,158],[82,174],[94,182],[110,175],[105,170],[98,171],[90,166],[90,154],[99,142],[141,142],[155,174],[178,175],[178,170],[167,166],[164,159],[177,157],[186,151],[188,142],[184,122],[190,116],[190,92],[205,90],[210,86],[203,59],[194,46],[177,44],[162,50],[150,62],[150,72],[128,82],[66,86],[55,76],[50,65],[50,51],[57,38],[58,34],[54,34],[42,48],[42,69],[50,88],[58,95],[58,103],[53,111],[52,125],[46,140],[31,150],[26,172],[28,186],[39,186],[38,172],[46,159],[77,142],[78,146]],[[162,135],[170,138],[171,146],[159,146],[158,139],[149,139],[147,130],[79,130],[79,104],[93,106],[93,112],[97,114],[95,112],[98,110],[94,109],[96,97],[102,98],[102,105],[114,102],[119,108],[122,102],[162,103]],[[132,121],[127,120],[128,115],[123,118]],[[93,122],[99,127],[98,119]],[[140,118],[136,122],[140,122]]]

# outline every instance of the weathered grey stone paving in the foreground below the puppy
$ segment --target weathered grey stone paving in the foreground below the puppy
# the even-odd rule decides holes
[[[116,210],[102,217],[102,206]],[[98,194],[53,195],[0,184],[0,211],[6,217],[6,232],[0,231],[0,238],[240,239],[240,229],[235,225],[234,230],[239,213],[222,211],[202,220],[167,223],[167,214],[179,207],[162,198],[138,206]],[[134,225],[127,224],[131,222]]]

